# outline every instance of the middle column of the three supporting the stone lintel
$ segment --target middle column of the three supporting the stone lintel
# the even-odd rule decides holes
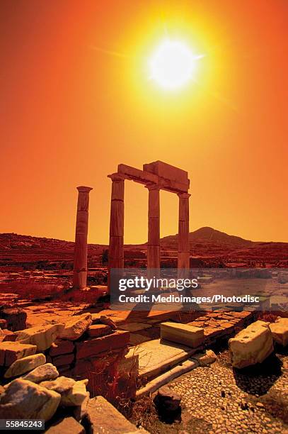
[[[160,187],[146,185],[148,199],[147,268],[160,268]]]

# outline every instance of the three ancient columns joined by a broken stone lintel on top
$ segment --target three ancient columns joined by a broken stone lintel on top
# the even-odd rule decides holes
[[[149,191],[148,199],[148,246],[147,268],[160,268],[160,190],[171,191],[179,197],[178,217],[178,268],[190,266],[189,249],[189,197],[188,172],[155,161],[143,165],[143,169],[118,165],[116,173],[108,175],[112,180],[109,269],[124,268],[124,182],[131,180],[144,184]]]

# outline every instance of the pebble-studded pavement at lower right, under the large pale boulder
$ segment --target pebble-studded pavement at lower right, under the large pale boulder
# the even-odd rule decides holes
[[[226,357],[228,360],[227,352]],[[195,421],[193,432],[288,432],[288,425],[281,418],[272,416],[279,416],[279,411],[282,411],[282,415],[286,413],[287,417],[288,356],[280,358],[283,363],[280,372],[265,374],[254,371],[253,374],[252,371],[247,376],[232,370],[229,363],[222,363],[220,357],[210,367],[198,367],[171,382],[173,391],[182,397],[182,406]],[[200,430],[196,429],[197,425],[201,426]]]

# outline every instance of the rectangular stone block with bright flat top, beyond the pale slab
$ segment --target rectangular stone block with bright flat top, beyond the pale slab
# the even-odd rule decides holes
[[[162,323],[160,325],[161,339],[196,348],[202,345],[204,329],[187,324]]]

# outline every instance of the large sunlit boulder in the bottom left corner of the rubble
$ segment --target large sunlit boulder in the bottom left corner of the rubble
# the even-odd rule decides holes
[[[61,396],[33,382],[18,378],[0,395],[0,418],[49,421]]]

